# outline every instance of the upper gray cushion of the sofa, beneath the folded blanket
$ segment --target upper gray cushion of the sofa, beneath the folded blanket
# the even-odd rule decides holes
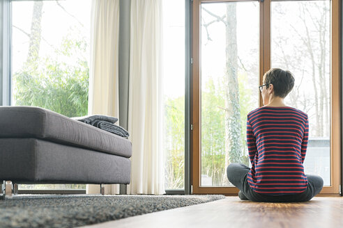
[[[45,108],[0,107],[0,138],[39,138],[130,158],[129,140]]]

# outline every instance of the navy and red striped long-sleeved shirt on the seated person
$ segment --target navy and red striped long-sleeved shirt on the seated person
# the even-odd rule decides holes
[[[291,195],[307,188],[304,173],[308,116],[288,106],[262,106],[247,114],[247,181],[257,193]]]

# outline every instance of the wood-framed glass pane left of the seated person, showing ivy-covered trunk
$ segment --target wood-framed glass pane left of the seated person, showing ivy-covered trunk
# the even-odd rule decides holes
[[[258,107],[258,79],[259,2],[203,3],[201,186],[232,186],[227,165],[250,165],[246,122]]]

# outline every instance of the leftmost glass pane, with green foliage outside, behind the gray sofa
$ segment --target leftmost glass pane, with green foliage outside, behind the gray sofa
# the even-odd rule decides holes
[[[12,1],[13,105],[87,114],[90,14],[91,0]],[[85,188],[20,188],[43,186]]]

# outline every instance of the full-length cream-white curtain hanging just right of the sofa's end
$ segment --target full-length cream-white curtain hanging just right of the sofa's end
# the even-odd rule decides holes
[[[165,193],[162,149],[162,0],[131,0],[129,194]]]

